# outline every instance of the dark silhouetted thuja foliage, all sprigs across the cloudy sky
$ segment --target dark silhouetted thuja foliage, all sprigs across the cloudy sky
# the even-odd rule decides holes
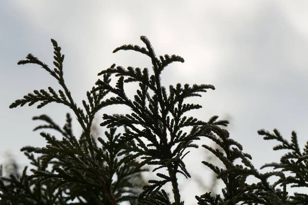
[[[190,174],[183,158],[188,148],[198,148],[197,141],[202,137],[213,140],[221,149],[209,145],[203,148],[213,153],[222,163],[218,167],[209,161],[202,163],[213,170],[222,180],[222,195],[205,193],[196,196],[196,203],[218,204],[307,204],[308,195],[288,194],[287,186],[307,187],[308,166],[306,152],[300,150],[296,133],[292,133],[291,142],[284,139],[275,129],[274,133],[259,130],[264,139],[274,139],[279,145],[274,150],[285,149],[288,152],[280,162],[268,163],[272,172],[258,171],[248,153],[243,152],[239,142],[229,137],[223,127],[227,120],[218,120],[213,116],[204,121],[189,116],[190,110],[200,109],[198,104],[188,104],[185,100],[201,96],[207,90],[215,90],[212,85],[188,85],[180,83],[168,88],[161,82],[164,69],[171,63],[184,59],[178,55],[156,55],[149,40],[141,36],[145,47],[124,45],[121,50],[133,50],[147,55],[152,69],[123,68],[113,64],[103,70],[86,100],[79,107],[71,96],[64,80],[64,55],[61,47],[51,39],[54,48],[54,69],[29,54],[18,65],[37,64],[54,77],[61,86],[59,91],[48,87],[34,90],[22,99],[16,100],[10,108],[38,104],[42,108],[50,103],[59,103],[71,109],[82,128],[82,134],[76,137],[72,131],[72,117],[66,114],[64,126],[57,125],[49,116],[33,117],[44,122],[34,130],[53,129],[59,133],[52,136],[41,132],[47,145],[43,148],[27,146],[21,149],[31,161],[32,169],[27,167],[20,176],[11,174],[0,180],[1,204],[98,204],[115,205],[122,201],[130,204],[183,205],[178,186],[178,176],[187,179]],[[112,84],[116,81],[115,84]],[[133,98],[129,98],[125,85],[137,83],[139,86]],[[107,130],[104,136],[95,138],[92,124],[95,114],[112,105],[130,108],[130,114],[103,114],[101,126]],[[185,130],[190,130],[185,132]],[[62,139],[61,137],[62,136]],[[143,187],[141,180],[145,166],[155,166],[151,179]],[[291,174],[288,174],[291,173]],[[257,178],[257,183],[247,183],[248,176]],[[269,177],[276,176],[274,182]],[[164,185],[172,186],[167,193]]]

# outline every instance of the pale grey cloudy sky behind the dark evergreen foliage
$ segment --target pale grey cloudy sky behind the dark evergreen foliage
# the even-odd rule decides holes
[[[20,148],[45,146],[39,132],[32,132],[40,122],[31,118],[48,114],[64,125],[70,112],[62,105],[9,109],[35,89],[60,88],[45,70],[17,66],[18,60],[32,53],[52,67],[50,38],[57,40],[66,55],[66,83],[81,105],[97,73],[113,63],[150,68],[150,60],[139,53],[112,54],[123,44],[143,46],[140,35],[149,38],[157,54],[185,59],[164,71],[166,87],[178,82],[216,87],[195,98],[203,108],[192,115],[202,120],[230,117],[230,136],[253,156],[257,168],[278,160],[282,152],[272,150],[276,143],[264,142],[257,130],[277,128],[287,139],[295,130],[299,141],[306,141],[306,8],[307,1],[1,1],[0,161],[9,152],[27,165]],[[110,107],[105,112],[124,109]],[[79,135],[80,128],[75,128]],[[206,183],[202,149],[194,150],[186,162],[188,171]],[[185,204],[194,204],[195,195],[204,193],[194,181],[183,180],[180,187]]]

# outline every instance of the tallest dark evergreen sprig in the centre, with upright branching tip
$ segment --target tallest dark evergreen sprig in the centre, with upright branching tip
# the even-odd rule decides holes
[[[206,122],[198,120],[194,117],[184,116],[184,113],[200,109],[202,106],[198,104],[184,104],[184,99],[188,97],[201,96],[201,92],[206,92],[207,89],[214,90],[212,85],[193,85],[177,84],[175,87],[170,85],[169,92],[161,85],[161,72],[172,62],[184,62],[184,59],[176,55],[165,55],[157,58],[149,40],[145,36],[140,37],[146,48],[139,46],[124,45],[113,52],[120,50],[133,50],[141,52],[150,57],[152,63],[152,74],[144,68],[128,67],[124,69],[121,66],[115,68],[113,64],[110,68],[99,73],[114,75],[119,77],[115,87],[110,86],[102,80],[98,80],[97,87],[92,92],[100,90],[108,90],[117,95],[102,101],[99,108],[110,105],[125,105],[133,112],[126,115],[103,115],[104,122],[101,126],[120,127],[126,126],[129,132],[124,133],[121,138],[121,143],[138,142],[137,145],[127,148],[127,152],[136,153],[135,156],[142,156],[141,165],[157,165],[158,169],[166,168],[169,176],[161,175],[163,180],[151,180],[152,185],[145,186],[144,193],[141,197],[151,192],[158,191],[165,183],[171,182],[175,193],[176,203],[180,203],[180,194],[177,185],[177,173],[183,174],[186,178],[190,177],[186,170],[185,163],[182,161],[184,151],[187,148],[198,146],[193,144],[195,140],[200,139],[198,135],[183,133],[182,129],[190,126],[207,125]],[[137,82],[140,89],[134,95],[134,99],[129,99],[125,93],[125,83]],[[149,90],[154,94],[150,94]],[[165,120],[166,119],[166,120]],[[143,128],[137,128],[136,126]],[[170,136],[170,137],[168,137]],[[145,145],[141,138],[149,141]],[[172,151],[173,150],[173,151]],[[155,169],[154,171],[158,170]]]

